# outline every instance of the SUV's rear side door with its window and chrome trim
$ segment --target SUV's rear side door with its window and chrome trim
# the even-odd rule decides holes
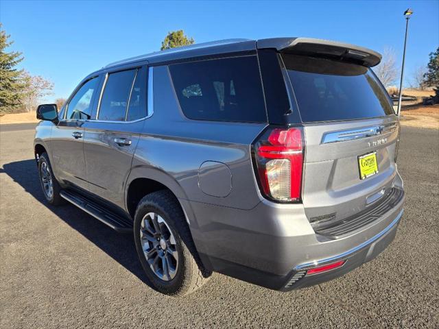
[[[106,73],[95,119],[84,124],[89,190],[121,208],[124,183],[147,116],[146,84],[146,67]]]

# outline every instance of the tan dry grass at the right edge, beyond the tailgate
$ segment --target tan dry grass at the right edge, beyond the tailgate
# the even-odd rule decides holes
[[[401,125],[439,129],[439,104],[402,109]]]

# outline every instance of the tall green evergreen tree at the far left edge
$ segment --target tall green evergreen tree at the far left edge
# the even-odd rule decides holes
[[[16,65],[23,60],[19,51],[5,51],[12,41],[10,35],[1,29],[0,23],[0,113],[12,112],[21,105],[21,93],[26,84],[23,81],[23,70]]]

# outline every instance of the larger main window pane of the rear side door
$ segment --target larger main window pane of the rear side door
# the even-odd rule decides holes
[[[121,71],[108,75],[99,107],[99,120],[124,121],[132,81],[137,70]]]

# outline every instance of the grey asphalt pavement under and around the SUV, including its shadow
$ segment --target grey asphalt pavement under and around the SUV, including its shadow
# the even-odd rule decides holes
[[[377,259],[289,293],[215,273],[175,299],[145,284],[131,236],[44,202],[25,127],[0,127],[0,328],[439,328],[438,130],[402,129],[405,213]]]

